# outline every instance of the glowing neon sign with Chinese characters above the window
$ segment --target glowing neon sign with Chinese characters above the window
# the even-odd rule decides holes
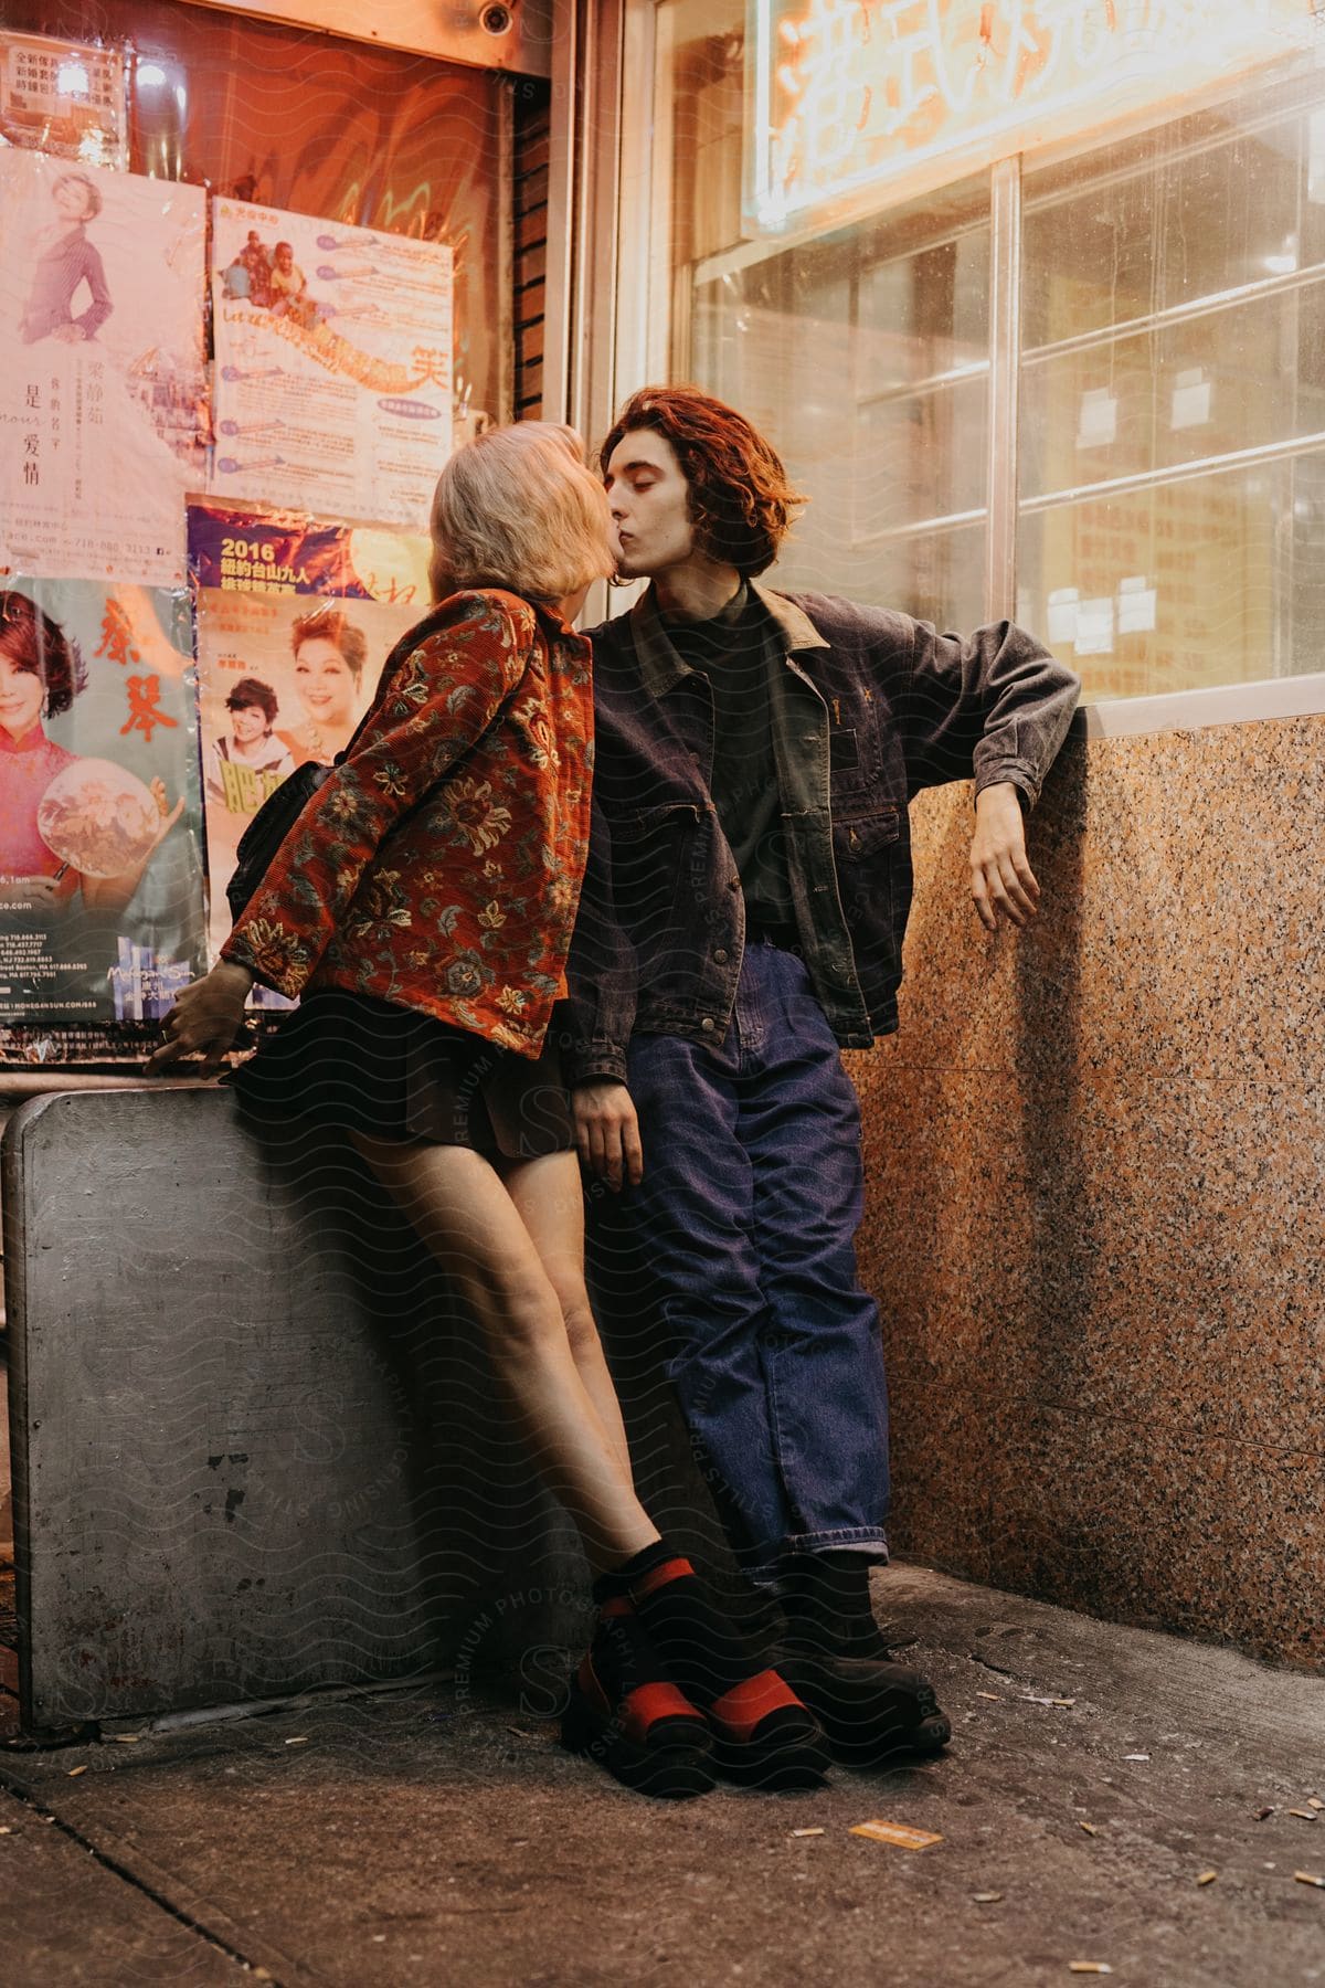
[[[1319,0],[749,0],[747,221],[922,191],[1305,48]]]

